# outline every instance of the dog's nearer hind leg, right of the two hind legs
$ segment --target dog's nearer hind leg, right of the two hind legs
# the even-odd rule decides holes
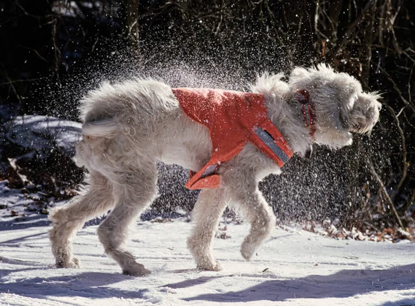
[[[152,161],[140,161],[140,167],[114,173],[114,197],[116,207],[98,228],[98,237],[107,253],[116,260],[124,274],[143,276],[150,273],[125,249],[129,224],[136,219],[156,197],[157,169]]]

